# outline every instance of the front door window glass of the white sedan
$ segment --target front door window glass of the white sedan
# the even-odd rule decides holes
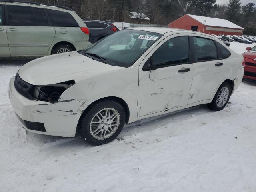
[[[175,37],[166,41],[153,54],[153,65],[156,68],[185,64],[188,62],[188,36]]]

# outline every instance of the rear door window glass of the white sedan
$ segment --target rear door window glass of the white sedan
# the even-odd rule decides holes
[[[196,61],[217,59],[217,49],[213,40],[193,37]]]

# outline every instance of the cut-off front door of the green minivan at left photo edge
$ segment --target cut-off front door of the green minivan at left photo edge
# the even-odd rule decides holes
[[[4,19],[4,4],[0,4],[0,55],[10,55]]]

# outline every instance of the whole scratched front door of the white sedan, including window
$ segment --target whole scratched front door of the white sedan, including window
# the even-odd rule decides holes
[[[155,70],[143,70],[152,56]],[[139,68],[138,117],[167,112],[188,104],[194,64],[190,63],[188,34],[162,40]]]

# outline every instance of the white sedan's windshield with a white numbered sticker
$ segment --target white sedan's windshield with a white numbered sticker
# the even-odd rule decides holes
[[[113,66],[130,67],[162,36],[148,31],[120,30],[79,53]]]

